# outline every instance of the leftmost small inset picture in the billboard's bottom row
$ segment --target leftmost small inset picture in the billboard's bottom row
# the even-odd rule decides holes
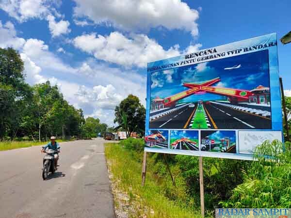
[[[168,148],[168,130],[146,130],[145,143],[149,148]]]

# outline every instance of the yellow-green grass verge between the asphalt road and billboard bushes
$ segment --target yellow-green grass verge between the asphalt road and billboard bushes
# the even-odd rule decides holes
[[[138,214],[130,217],[147,218],[199,218],[200,211],[183,202],[170,200],[165,196],[165,186],[172,186],[170,180],[159,181],[148,158],[146,184],[141,186],[142,152],[125,149],[118,143],[105,144],[105,156],[113,174],[113,182],[129,196],[129,202]],[[179,189],[179,187],[177,187]],[[118,203],[118,202],[117,202]],[[131,205],[131,206],[132,206]]]

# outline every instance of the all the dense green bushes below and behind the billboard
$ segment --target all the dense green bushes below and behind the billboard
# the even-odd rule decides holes
[[[129,156],[142,162],[144,140],[120,141]],[[285,153],[282,151],[285,150]],[[205,206],[274,208],[291,206],[291,146],[275,140],[258,146],[258,160],[203,158]],[[271,157],[272,156],[272,157]],[[165,164],[165,158],[170,171]],[[200,207],[198,157],[148,153],[147,167],[162,187],[163,196],[189,208]],[[174,179],[172,181],[170,173]]]

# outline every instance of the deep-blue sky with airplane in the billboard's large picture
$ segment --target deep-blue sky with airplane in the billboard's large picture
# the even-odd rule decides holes
[[[252,90],[262,85],[270,87],[268,50],[203,62],[170,70],[154,72],[151,75],[151,98],[166,98],[173,94],[189,90],[184,82],[202,84],[214,78],[220,81],[213,87],[225,87],[239,90]],[[236,66],[236,68],[232,68]],[[203,99],[218,100],[221,95],[196,93],[183,99],[194,102]]]

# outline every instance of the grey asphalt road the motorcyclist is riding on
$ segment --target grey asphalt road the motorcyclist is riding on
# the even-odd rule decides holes
[[[61,143],[46,181],[40,146],[0,152],[0,218],[114,218],[103,142]]]

